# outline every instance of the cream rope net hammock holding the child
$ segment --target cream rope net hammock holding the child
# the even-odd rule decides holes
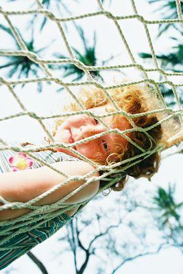
[[[45,77],[35,77],[35,78],[28,78],[28,79],[12,80],[12,79],[5,79],[5,77],[0,77],[1,84],[5,85],[8,88],[9,92],[12,94],[12,96],[14,97],[16,102],[19,103],[21,110],[22,110],[21,112],[19,112],[17,114],[5,116],[5,117],[1,118],[0,121],[5,121],[7,119],[13,119],[15,117],[27,115],[27,116],[31,117],[32,119],[35,119],[40,124],[40,127],[42,127],[45,134],[51,141],[54,141],[53,136],[49,132],[49,129],[47,129],[47,127],[43,123],[43,121],[46,119],[51,119],[51,118],[56,119],[56,118],[60,118],[60,117],[71,116],[73,114],[88,114],[90,116],[93,116],[95,119],[98,119],[101,123],[103,123],[103,121],[101,119],[103,116],[94,114],[93,112],[86,110],[84,108],[84,105],[80,102],[80,100],[77,99],[77,97],[71,90],[71,87],[73,87],[73,86],[93,85],[96,88],[100,88],[100,89],[104,90],[104,92],[106,93],[106,97],[110,100],[111,104],[114,105],[114,108],[116,110],[113,114],[123,114],[123,116],[125,116],[127,118],[127,120],[130,121],[130,123],[132,125],[132,128],[126,129],[123,132],[121,132],[119,129],[111,129],[110,127],[108,127],[108,125],[103,123],[103,125],[105,125],[108,128],[108,131],[105,133],[97,134],[95,136],[85,138],[84,140],[80,140],[80,141],[77,141],[77,142],[75,142],[73,144],[69,144],[69,145],[66,145],[61,142],[55,142],[52,145],[51,144],[40,145],[40,146],[37,146],[34,148],[29,148],[29,149],[27,149],[26,147],[20,147],[17,145],[8,145],[8,143],[5,142],[5,140],[0,138],[0,142],[1,142],[0,151],[3,151],[5,149],[11,149],[12,151],[16,151],[16,152],[25,152],[25,153],[27,153],[27,155],[34,158],[38,162],[41,162],[45,166],[49,166],[49,168],[52,169],[53,171],[56,171],[60,175],[64,175],[64,177],[66,177],[66,180],[64,182],[58,184],[57,186],[54,186],[53,188],[47,190],[47,192],[42,193],[42,195],[39,195],[38,197],[32,199],[31,201],[27,201],[25,203],[23,203],[23,202],[10,203],[9,201],[6,201],[3,197],[0,197],[0,202],[3,203],[3,206],[0,207],[0,211],[8,210],[8,209],[22,209],[22,208],[29,208],[31,210],[31,212],[24,214],[23,216],[20,216],[16,219],[11,219],[8,221],[0,221],[0,226],[5,227],[5,225],[11,225],[11,227],[8,226],[8,228],[3,229],[3,232],[0,232],[1,234],[3,233],[3,235],[5,235],[5,234],[9,235],[8,238],[10,239],[10,238],[14,237],[15,235],[21,234],[23,232],[28,232],[30,229],[33,229],[33,228],[37,228],[38,225],[53,219],[55,216],[58,216],[58,215],[62,214],[63,212],[66,212],[67,210],[72,210],[76,206],[84,207],[88,203],[88,201],[90,201],[90,199],[92,199],[92,198],[90,198],[82,203],[71,204],[71,205],[64,205],[64,201],[66,201],[66,199],[69,199],[71,196],[75,195],[75,193],[80,191],[82,188],[86,187],[91,182],[97,181],[98,179],[106,179],[106,182],[108,181],[108,184],[106,184],[105,188],[107,188],[108,186],[114,184],[114,182],[119,181],[120,177],[123,177],[125,169],[129,168],[130,166],[132,166],[138,162],[141,162],[142,158],[143,158],[143,160],[145,158],[148,158],[149,155],[155,153],[156,151],[163,151],[164,149],[167,149],[167,147],[164,147],[163,145],[158,145],[158,147],[156,147],[156,149],[153,149],[153,150],[150,149],[148,151],[145,151],[145,149],[140,147],[136,142],[134,142],[130,138],[128,138],[126,134],[133,132],[135,130],[135,131],[139,131],[139,132],[144,132],[145,134],[148,135],[149,129],[152,129],[153,127],[161,125],[162,123],[168,121],[169,119],[172,119],[173,117],[177,117],[180,121],[180,125],[182,125],[183,112],[182,112],[182,108],[181,108],[181,104],[180,104],[180,98],[178,96],[178,92],[176,89],[178,87],[179,88],[182,87],[183,82],[182,82],[182,84],[175,84],[172,81],[170,81],[168,79],[168,77],[169,76],[182,77],[183,73],[170,73],[170,72],[164,71],[159,66],[158,61],[156,59],[156,53],[154,51],[154,45],[151,40],[151,35],[150,35],[149,29],[148,29],[149,25],[151,25],[151,24],[160,24],[160,23],[161,24],[173,24],[173,23],[182,24],[183,17],[182,17],[182,12],[181,12],[181,7],[180,7],[180,0],[175,0],[175,2],[177,5],[178,18],[166,19],[166,20],[156,20],[156,21],[147,20],[143,16],[138,14],[138,11],[136,9],[136,3],[134,0],[131,0],[134,14],[128,15],[128,16],[114,16],[114,14],[112,14],[111,12],[104,10],[103,5],[101,4],[100,0],[97,0],[97,4],[99,7],[98,12],[81,14],[78,16],[70,16],[70,17],[66,17],[66,18],[57,17],[55,14],[53,14],[53,12],[46,10],[40,0],[36,0],[36,4],[38,5],[38,8],[34,9],[34,10],[9,11],[9,10],[3,10],[3,8],[0,8],[1,15],[4,16],[5,21],[8,23],[8,25],[12,31],[12,34],[14,35],[14,38],[16,39],[16,42],[18,43],[19,47],[21,48],[20,50],[16,50],[16,51],[1,50],[0,55],[3,55],[3,56],[12,55],[12,56],[20,56],[20,57],[26,56],[27,58],[29,58],[29,60],[32,60],[32,62],[34,62],[35,64],[38,64],[40,66],[40,68],[42,69],[42,71],[44,71],[44,73],[45,73]],[[17,29],[14,27],[14,25],[12,24],[12,21],[11,21],[11,16],[26,16],[27,14],[42,14],[42,16],[45,16],[49,21],[53,21],[55,23],[55,25],[59,29],[60,38],[64,41],[64,44],[66,46],[66,49],[69,53],[70,58],[47,60],[47,59],[40,58],[40,56],[38,56],[36,53],[33,53],[27,49],[25,42],[23,41],[23,39],[21,38],[21,35],[17,31]],[[65,22],[77,21],[78,19],[82,20],[83,18],[93,17],[93,16],[106,17],[111,22],[111,24],[114,24],[114,26],[117,29],[117,33],[119,34],[119,36],[121,38],[121,43],[123,45],[125,45],[125,48],[127,49],[127,53],[132,61],[130,64],[119,64],[119,65],[114,65],[114,66],[86,66],[84,63],[80,62],[80,60],[77,60],[75,58],[75,55],[73,53],[73,50],[71,49],[71,45],[69,45],[69,40],[66,37],[66,33],[64,31],[62,24]],[[127,21],[132,18],[136,18],[143,25],[143,27],[145,29],[145,34],[147,35],[147,40],[149,42],[149,47],[151,50],[152,60],[154,61],[155,67],[153,69],[146,69],[143,65],[138,64],[136,62],[134,55],[130,49],[130,46],[127,43],[125,35],[123,34],[121,26],[119,25],[119,21],[122,21],[122,20]],[[49,64],[74,64],[75,66],[77,66],[77,68],[84,71],[84,73],[87,76],[87,81],[64,82],[64,79],[54,77],[54,75],[52,74],[52,72],[49,69]],[[144,79],[136,81],[136,82],[127,82],[127,83],[122,83],[122,84],[116,84],[113,86],[104,86],[103,84],[97,82],[96,79],[93,79],[93,77],[90,75],[91,71],[100,71],[100,70],[108,71],[110,69],[123,69],[123,68],[138,69],[139,71],[141,71],[141,73],[143,73]],[[154,72],[154,71],[160,73],[160,75],[162,75],[164,77],[164,81],[158,82],[158,81],[155,81],[154,79],[150,79],[148,77],[147,73]],[[27,109],[25,108],[25,105],[23,104],[21,99],[16,95],[16,92],[14,91],[14,86],[20,85],[20,84],[38,83],[38,82],[39,83],[40,82],[54,82],[54,83],[64,87],[66,92],[68,92],[69,95],[71,95],[71,97],[77,102],[77,104],[80,105],[81,111],[71,112],[71,113],[62,113],[62,114],[53,115],[53,116],[39,116],[35,112],[27,111]],[[134,84],[141,84],[141,83],[147,83],[147,84],[151,84],[154,86],[154,88],[156,89],[158,98],[160,99],[160,101],[163,105],[163,108],[158,109],[158,110],[151,110],[149,112],[145,112],[145,113],[141,113],[141,114],[130,114],[130,113],[127,113],[127,112],[121,110],[121,108],[119,108],[117,103],[114,101],[114,99],[112,99],[112,97],[110,97],[110,94],[108,93],[108,90],[110,88],[120,88],[120,87],[130,86],[130,85],[134,85]],[[172,87],[173,95],[175,97],[175,101],[178,106],[177,110],[169,108],[167,106],[167,104],[165,103],[164,98],[160,92],[160,88],[159,88],[160,84],[169,84]],[[136,125],[134,125],[134,123],[132,121],[132,119],[135,117],[145,116],[147,114],[157,114],[157,113],[166,113],[167,116],[166,116],[166,118],[158,121],[158,123],[151,125],[150,127],[147,127],[147,128],[137,127]],[[111,114],[105,114],[105,115],[109,116]],[[103,136],[108,133],[120,134],[121,136],[123,136],[123,138],[127,139],[128,142],[131,142],[134,146],[136,146],[138,149],[140,149],[141,154],[136,155],[133,158],[126,159],[121,162],[112,164],[110,166],[105,166],[105,165],[96,164],[96,162],[89,160],[84,155],[80,154],[79,152],[75,151],[75,149],[73,149],[73,147],[75,145],[80,145],[84,142],[88,142],[89,140],[93,140],[93,138],[98,138],[98,137]],[[172,140],[171,140],[171,142],[169,142],[168,147],[171,147],[172,145],[175,145],[178,142],[177,136],[173,136]],[[69,176],[68,174],[64,173],[63,171],[54,169],[53,166],[51,166],[44,160],[40,160],[39,158],[36,158],[36,156],[32,154],[32,152],[35,152],[36,149],[45,149],[48,147],[56,147],[56,146],[61,147],[61,148],[66,148],[66,149],[69,149],[70,151],[74,152],[76,155],[78,155],[80,157],[80,159],[95,166],[95,168],[96,168],[95,171],[90,172],[84,176]],[[117,169],[118,166],[122,166],[120,170]],[[99,177],[92,176],[96,171],[105,171],[105,172],[103,172],[102,175],[100,175]],[[116,177],[114,176],[112,179],[108,179],[107,178],[108,175],[111,175],[111,174],[117,174],[117,176]],[[66,195],[66,197],[60,199],[60,201],[57,201],[56,203],[53,203],[51,205],[46,205],[46,206],[34,206],[34,204],[36,202],[40,201],[40,199],[42,199],[43,197],[46,197],[47,195],[51,194],[52,192],[55,192],[64,184],[67,184],[68,182],[71,182],[73,180],[77,181],[77,180],[81,180],[81,179],[82,180],[84,179],[85,183],[82,184],[82,186],[75,189],[73,192],[69,193],[69,195]],[[99,189],[99,192],[101,192],[103,189],[104,188]],[[51,210],[53,210],[53,211],[50,212]],[[34,227],[29,227],[29,224],[35,222],[34,216],[36,214],[40,214],[40,213],[45,213],[45,214],[41,214],[38,216],[36,221],[39,221],[39,223],[36,224]],[[20,221],[23,221],[23,225],[20,225]],[[17,228],[16,232],[11,234],[10,233],[11,229],[14,229],[14,228]],[[1,234],[0,234],[0,236],[1,236]],[[0,243],[3,244],[2,240],[0,240]]]

